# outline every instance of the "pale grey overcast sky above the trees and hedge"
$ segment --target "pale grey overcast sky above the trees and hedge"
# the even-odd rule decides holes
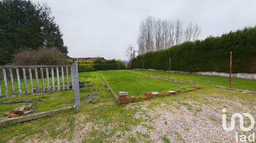
[[[148,15],[198,23],[200,39],[256,25],[255,0],[31,0],[47,3],[70,57],[125,59]]]

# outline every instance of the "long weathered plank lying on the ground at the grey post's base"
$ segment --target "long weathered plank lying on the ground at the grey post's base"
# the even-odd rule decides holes
[[[63,108],[59,108],[59,109],[55,109],[55,110],[33,113],[33,114],[30,114],[30,115],[25,115],[25,116],[18,116],[18,117],[14,117],[14,118],[8,118],[8,119],[0,121],[0,126],[2,126],[5,122],[20,123],[20,122],[24,122],[24,121],[29,121],[29,120],[41,118],[41,117],[46,117],[46,116],[59,114],[59,113],[65,112],[67,109],[71,109],[71,108],[73,108],[73,107],[69,106],[69,107],[63,107]]]

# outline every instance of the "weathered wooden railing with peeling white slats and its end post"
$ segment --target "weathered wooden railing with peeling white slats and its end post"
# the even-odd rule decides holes
[[[80,100],[79,100],[79,83],[78,83],[78,69],[77,69],[77,60],[73,59],[73,65],[35,65],[35,66],[0,66],[0,68],[3,70],[3,80],[4,80],[4,89],[5,89],[5,95],[2,95],[1,92],[1,86],[0,86],[0,98],[3,97],[15,97],[15,96],[24,96],[24,95],[34,95],[34,94],[42,94],[42,93],[51,93],[51,92],[60,92],[60,91],[69,91],[74,90],[75,92],[75,105],[76,105],[76,111],[80,110]],[[34,77],[36,82],[36,89],[33,89],[33,80],[32,80],[32,69],[34,69]],[[46,72],[46,80],[47,80],[47,88],[44,87],[44,69]],[[51,75],[52,75],[52,87],[50,87],[50,81],[49,81],[49,68],[51,68]],[[56,68],[56,76],[57,76],[57,87],[55,87],[54,82],[54,69]],[[62,86],[60,86],[59,82],[59,68],[61,70],[61,78],[62,78]],[[64,76],[64,70],[66,68],[66,78],[67,83],[65,86],[65,76]],[[7,70],[6,70],[7,69]],[[15,94],[15,88],[14,88],[14,75],[13,75],[13,69],[16,69],[16,78],[17,78],[17,85],[18,85],[18,94]],[[23,79],[24,79],[24,89],[21,88],[20,84],[20,69],[22,69],[23,72]],[[26,69],[29,73],[29,81],[30,81],[30,91],[28,91],[27,87],[27,77],[26,77]],[[41,87],[39,88],[39,80],[38,80],[38,70],[40,69],[41,73]],[[72,89],[69,88],[69,69],[71,69],[71,83],[72,83]],[[6,77],[6,72],[9,70],[10,74],[10,82],[12,86],[12,94],[9,94],[8,91],[8,80]],[[55,89],[57,88],[57,89]],[[22,93],[23,90],[23,93]],[[46,91],[47,90],[47,91]],[[25,91],[25,93],[24,93]]]

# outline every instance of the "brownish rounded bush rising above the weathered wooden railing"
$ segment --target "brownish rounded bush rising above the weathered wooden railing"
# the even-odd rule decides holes
[[[13,65],[68,65],[66,55],[56,48],[41,48],[39,50],[24,50],[15,55]]]

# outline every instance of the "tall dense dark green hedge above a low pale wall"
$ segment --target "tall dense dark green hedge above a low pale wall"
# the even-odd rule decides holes
[[[169,69],[185,72],[229,72],[232,51],[232,73],[256,73],[256,27],[229,32],[202,41],[185,42],[166,50],[147,52],[133,59],[135,68]]]

